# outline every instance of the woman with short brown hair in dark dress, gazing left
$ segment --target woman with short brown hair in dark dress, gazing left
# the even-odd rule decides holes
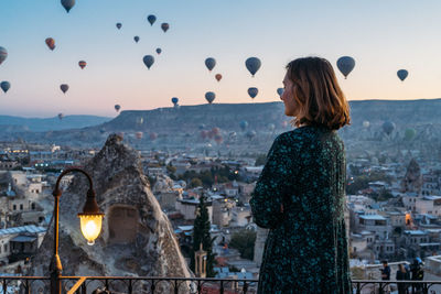
[[[273,142],[250,199],[268,228],[258,293],[351,293],[344,221],[345,153],[336,130],[349,107],[331,64],[288,64],[281,100],[295,130]]]

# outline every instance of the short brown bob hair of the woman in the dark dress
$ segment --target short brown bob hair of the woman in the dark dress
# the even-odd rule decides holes
[[[305,123],[338,130],[351,123],[349,105],[329,61],[298,58],[287,65],[287,74],[300,109],[293,121],[297,127]]]

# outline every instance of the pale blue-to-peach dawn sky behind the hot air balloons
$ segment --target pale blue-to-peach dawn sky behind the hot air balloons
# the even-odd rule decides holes
[[[153,109],[179,97],[198,105],[206,91],[216,92],[214,102],[277,101],[284,65],[308,55],[335,69],[340,56],[355,58],[346,80],[337,73],[349,100],[440,98],[440,11],[439,0],[76,0],[67,14],[60,0],[0,0],[0,46],[9,53],[0,81],[11,83],[0,115],[116,116],[115,104]],[[148,14],[158,18],[153,26]],[[150,70],[148,54],[155,57]],[[262,62],[255,78],[245,68],[250,56]],[[206,57],[217,61],[212,73]],[[409,70],[405,83],[400,68]],[[254,100],[248,87],[259,88]]]

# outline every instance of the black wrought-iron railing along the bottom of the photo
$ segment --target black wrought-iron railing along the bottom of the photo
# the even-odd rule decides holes
[[[0,276],[0,294],[46,294],[50,282],[49,276]],[[258,280],[244,279],[62,276],[66,294],[254,294],[257,284]],[[441,281],[352,281],[354,294],[387,294],[399,285],[407,290],[402,293],[441,294]]]

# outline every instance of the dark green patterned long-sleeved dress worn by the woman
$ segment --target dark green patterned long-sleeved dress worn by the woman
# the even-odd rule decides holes
[[[275,140],[250,200],[270,229],[258,293],[351,293],[345,176],[336,131],[306,126]]]

